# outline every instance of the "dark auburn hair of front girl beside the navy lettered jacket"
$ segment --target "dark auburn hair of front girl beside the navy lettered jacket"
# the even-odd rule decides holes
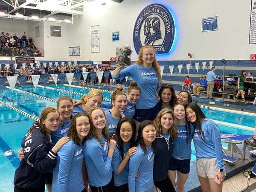
[[[78,137],[78,134],[77,134],[77,130],[76,130],[76,118],[80,117],[80,116],[86,116],[89,120],[89,123],[90,123],[90,128],[92,127],[91,125],[91,122],[90,122],[90,118],[87,114],[85,113],[76,113],[72,119],[71,119],[71,122],[70,122],[70,128],[68,130],[68,134],[67,134],[67,137],[70,137],[74,143],[76,143],[76,145],[81,145],[80,143],[80,138]],[[91,130],[91,129],[90,129]],[[90,134],[91,134],[91,131],[89,131],[87,137],[90,137]],[[85,140],[86,138],[84,138]],[[84,140],[82,141],[82,143],[84,143]]]

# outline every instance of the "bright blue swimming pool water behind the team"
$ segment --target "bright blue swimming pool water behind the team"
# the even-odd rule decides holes
[[[56,88],[55,85],[50,87]],[[90,91],[89,89],[70,86],[58,86],[57,88],[68,92],[73,91],[83,94]],[[63,95],[70,96],[72,99],[81,98],[79,94],[45,89],[41,86],[37,87],[36,90],[34,90],[32,86],[25,87],[25,92],[20,92],[20,90],[21,88],[16,88],[12,93],[10,89],[5,87],[3,92],[0,93],[0,100],[36,117],[40,116],[44,108],[56,107],[56,102],[50,100],[58,99]],[[104,98],[110,98],[110,92],[103,91],[102,93]],[[44,99],[43,96],[45,96]],[[34,120],[16,111],[10,110],[10,108],[6,106],[1,104],[0,106],[0,192],[13,192],[13,177],[15,169],[20,162],[17,157],[17,151],[20,149],[23,136],[31,127]],[[253,134],[253,128],[256,125],[255,114],[240,114],[232,111],[225,112],[205,107],[202,108],[202,110],[209,119],[220,122],[218,126],[223,133]],[[226,125],[226,123],[231,123],[231,126]],[[237,124],[241,126],[235,127]],[[242,126],[250,127],[251,129],[243,129]],[[195,153],[194,149],[192,149],[192,154],[193,153]],[[194,155],[192,155],[191,160],[195,160]]]

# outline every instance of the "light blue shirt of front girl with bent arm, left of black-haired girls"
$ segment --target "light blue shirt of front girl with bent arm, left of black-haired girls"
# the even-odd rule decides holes
[[[89,185],[105,186],[112,179],[112,157],[108,157],[108,141],[101,137],[102,143],[94,137],[84,144],[84,158]]]

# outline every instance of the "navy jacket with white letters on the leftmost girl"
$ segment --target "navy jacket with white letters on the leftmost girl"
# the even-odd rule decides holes
[[[24,159],[15,171],[14,185],[20,188],[34,188],[44,185],[46,173],[55,167],[57,154],[51,151],[51,140],[35,123],[31,133],[23,138],[21,147]]]

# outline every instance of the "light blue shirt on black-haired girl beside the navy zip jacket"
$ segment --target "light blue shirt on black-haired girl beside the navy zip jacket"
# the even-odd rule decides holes
[[[130,158],[128,175],[129,192],[146,192],[154,185],[154,153],[151,146],[147,147],[147,150],[147,153],[144,154],[144,151],[138,145],[136,153]],[[137,172],[140,173],[140,177],[135,179]]]

